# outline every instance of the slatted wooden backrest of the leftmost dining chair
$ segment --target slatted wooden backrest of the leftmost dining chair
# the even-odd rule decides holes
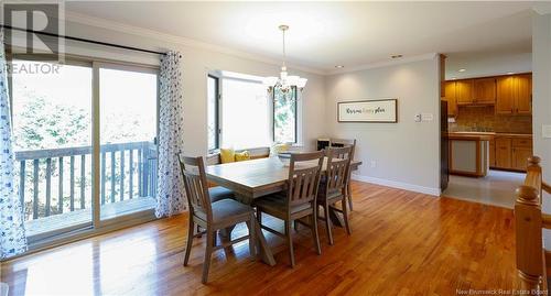
[[[191,215],[202,219],[206,218],[206,220],[210,221],[213,218],[213,210],[210,197],[208,196],[208,184],[203,157],[188,157],[181,154],[179,154],[177,157],[184,178]]]

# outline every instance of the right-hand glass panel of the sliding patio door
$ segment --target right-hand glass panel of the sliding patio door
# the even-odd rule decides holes
[[[154,207],[156,102],[154,70],[99,65],[101,220]]]

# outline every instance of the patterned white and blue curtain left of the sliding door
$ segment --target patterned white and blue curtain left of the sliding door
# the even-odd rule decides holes
[[[21,201],[14,190],[14,161],[8,68],[3,48],[3,30],[0,31],[0,259],[26,251]]]

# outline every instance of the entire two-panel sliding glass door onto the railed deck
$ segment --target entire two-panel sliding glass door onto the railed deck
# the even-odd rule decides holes
[[[85,58],[11,66],[15,186],[29,242],[151,219],[158,69]]]

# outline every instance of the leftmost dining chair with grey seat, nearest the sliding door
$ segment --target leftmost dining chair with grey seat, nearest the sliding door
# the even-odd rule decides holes
[[[190,218],[187,229],[187,245],[185,249],[184,266],[187,266],[192,250],[195,224],[206,229],[205,261],[203,262],[203,283],[208,281],[208,268],[210,266],[210,255],[214,251],[229,246],[231,244],[249,240],[249,252],[256,257],[255,238],[255,211],[251,207],[234,199],[225,198],[213,201],[207,188],[205,164],[203,157],[187,157],[179,155],[180,168],[184,178],[187,204],[190,206]],[[249,234],[220,242],[217,245],[216,231],[237,223],[245,222],[249,229]]]

